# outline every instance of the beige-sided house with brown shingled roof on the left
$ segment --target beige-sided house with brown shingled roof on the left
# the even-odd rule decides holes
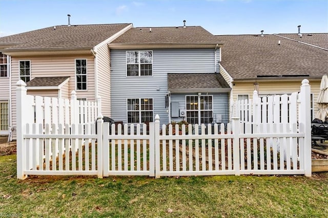
[[[16,125],[16,82],[28,94],[78,99],[101,97],[110,116],[110,54],[107,44],[132,24],[64,25],[0,38],[0,135]]]

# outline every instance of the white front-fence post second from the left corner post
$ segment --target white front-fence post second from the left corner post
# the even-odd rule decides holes
[[[103,178],[103,115],[97,117],[97,176]],[[107,142],[108,143],[108,142]],[[108,145],[107,145],[108,146]]]

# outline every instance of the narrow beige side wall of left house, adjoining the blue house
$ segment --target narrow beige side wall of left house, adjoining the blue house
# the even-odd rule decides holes
[[[97,49],[97,85],[98,95],[101,97],[101,113],[111,117],[111,71],[110,50],[107,43]]]

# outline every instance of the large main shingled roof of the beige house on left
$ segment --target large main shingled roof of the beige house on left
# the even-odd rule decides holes
[[[130,24],[61,25],[0,38],[7,49],[93,48]]]

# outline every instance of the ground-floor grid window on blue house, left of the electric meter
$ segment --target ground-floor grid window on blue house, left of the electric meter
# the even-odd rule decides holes
[[[153,122],[152,98],[128,98],[128,123]]]

